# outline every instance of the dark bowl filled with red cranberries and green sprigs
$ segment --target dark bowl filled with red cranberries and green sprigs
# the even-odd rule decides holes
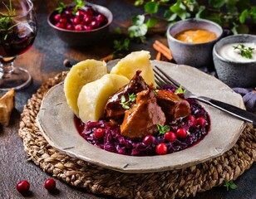
[[[95,45],[108,34],[112,20],[108,8],[89,2],[78,6],[76,3],[59,3],[47,18],[57,36],[69,46]]]

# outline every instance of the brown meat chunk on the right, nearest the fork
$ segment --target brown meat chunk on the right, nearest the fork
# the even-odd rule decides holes
[[[185,99],[181,99],[167,90],[159,90],[155,96],[157,104],[165,113],[165,117],[170,122],[184,118],[190,114],[190,104]]]

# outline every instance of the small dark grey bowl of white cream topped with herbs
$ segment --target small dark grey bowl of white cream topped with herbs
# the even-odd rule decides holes
[[[214,45],[214,67],[230,87],[256,87],[256,36],[227,36]]]

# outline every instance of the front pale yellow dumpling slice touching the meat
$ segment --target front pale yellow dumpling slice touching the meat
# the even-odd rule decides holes
[[[81,121],[86,123],[101,119],[104,116],[104,106],[109,96],[128,83],[129,80],[125,76],[106,74],[100,80],[84,85],[77,99]]]

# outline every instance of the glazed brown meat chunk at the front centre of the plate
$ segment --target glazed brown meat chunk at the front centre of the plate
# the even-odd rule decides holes
[[[137,94],[136,104],[126,110],[125,119],[121,124],[121,134],[128,138],[143,138],[155,134],[156,124],[165,124],[165,114],[158,104],[152,89]]]

